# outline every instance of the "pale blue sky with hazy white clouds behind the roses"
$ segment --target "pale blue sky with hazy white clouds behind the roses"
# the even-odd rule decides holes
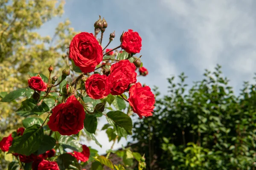
[[[254,0],[67,0],[64,15],[54,18],[39,30],[54,34],[58,22],[69,19],[76,31],[94,32],[93,24],[100,14],[108,22],[103,42],[116,31],[109,46],[120,44],[122,31],[133,29],[142,37],[143,66],[147,77],[139,81],[156,85],[165,94],[166,78],[185,72],[188,83],[200,80],[204,69],[213,70],[218,63],[236,92],[243,81],[253,79],[256,72],[256,1]],[[103,45],[104,46],[104,45]],[[101,120],[98,127],[102,127]],[[105,132],[98,132],[94,142],[85,144],[104,153],[111,143]],[[125,140],[115,145],[115,149]]]

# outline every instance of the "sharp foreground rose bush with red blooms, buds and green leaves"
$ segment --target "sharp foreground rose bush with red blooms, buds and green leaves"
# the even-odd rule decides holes
[[[102,116],[108,122],[102,130],[115,143],[132,134],[132,112],[143,118],[152,116],[154,110],[151,89],[137,82],[137,68],[140,75],[148,74],[142,67],[142,56],[134,56],[140,53],[142,38],[129,29],[121,35],[119,46],[107,48],[116,36],[113,31],[103,46],[107,27],[106,20],[100,17],[94,24],[94,34],[81,32],[70,40],[69,52],[65,53],[69,60],[62,72],[55,70],[52,63],[49,75],[33,73],[38,75],[28,77],[27,88],[1,100],[11,102],[22,97],[16,112],[23,117],[23,127],[0,141],[0,149],[11,153],[13,164],[20,169],[26,164],[32,170],[80,170],[91,161],[102,168],[124,169],[122,164],[113,166],[108,159],[111,150],[106,157],[99,156],[97,150],[80,144],[85,142],[80,139],[94,140],[100,147],[104,144],[95,137]],[[143,158],[139,161],[142,170],[145,158],[139,153],[136,156]]]

